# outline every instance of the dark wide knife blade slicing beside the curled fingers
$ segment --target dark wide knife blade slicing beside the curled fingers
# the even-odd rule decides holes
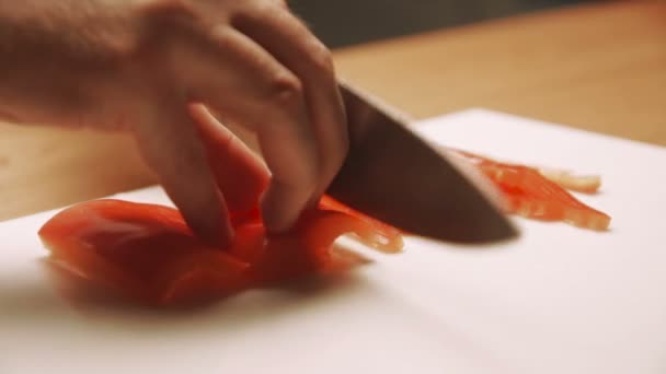
[[[412,131],[409,118],[340,82],[349,153],[326,194],[410,234],[487,244],[517,235],[475,171]],[[496,196],[500,196],[498,194]]]

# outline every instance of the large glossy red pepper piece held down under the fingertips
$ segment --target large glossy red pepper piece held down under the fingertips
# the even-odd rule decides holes
[[[60,269],[154,305],[210,301],[349,267],[354,257],[332,250],[346,233],[387,253],[402,248],[397,229],[329,197],[282,235],[267,235],[256,210],[231,220],[234,242],[217,248],[196,237],[173,208],[104,199],[65,209],[38,234]]]

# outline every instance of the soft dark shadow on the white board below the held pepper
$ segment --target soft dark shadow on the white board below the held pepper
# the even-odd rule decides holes
[[[369,259],[354,254],[358,258],[355,268],[371,264]],[[334,304],[349,294],[368,292],[368,287],[372,288],[355,269],[347,269],[244,290],[206,304],[150,308],[128,302],[108,289],[92,285],[47,259],[41,262],[45,281],[15,284],[10,292],[0,292],[0,305],[5,306],[3,316],[12,320],[12,325],[50,325],[69,317],[102,331],[108,328],[129,334],[206,328],[211,323],[225,329],[238,329],[262,320],[279,319],[308,307]],[[64,303],[68,307],[62,308]]]

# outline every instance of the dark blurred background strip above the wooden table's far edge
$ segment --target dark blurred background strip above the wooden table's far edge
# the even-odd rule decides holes
[[[451,27],[584,0],[290,0],[329,47]]]

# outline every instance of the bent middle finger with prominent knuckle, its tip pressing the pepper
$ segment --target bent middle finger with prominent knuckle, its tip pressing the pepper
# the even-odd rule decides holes
[[[216,30],[211,43],[218,52],[209,54],[214,58],[208,67],[190,77],[191,91],[225,120],[256,132],[272,173],[262,201],[264,223],[282,232],[298,219],[319,180],[320,157],[302,86],[273,56],[233,28]]]

